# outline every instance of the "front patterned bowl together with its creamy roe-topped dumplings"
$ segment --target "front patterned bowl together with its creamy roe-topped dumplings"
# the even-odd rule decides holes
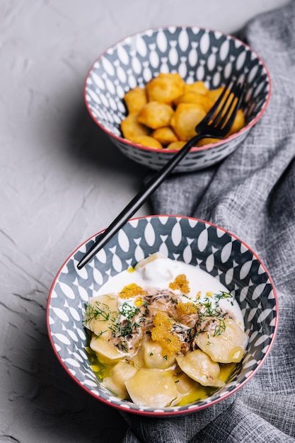
[[[47,302],[59,363],[81,389],[129,413],[194,413],[236,393],[277,334],[265,265],[219,226],[131,219],[82,267],[101,232],[71,253]]]

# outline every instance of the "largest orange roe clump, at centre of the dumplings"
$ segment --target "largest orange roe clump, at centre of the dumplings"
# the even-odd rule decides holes
[[[170,357],[181,349],[178,334],[173,331],[173,319],[162,311],[154,316],[154,328],[151,329],[152,340],[158,342],[163,349],[163,357]]]

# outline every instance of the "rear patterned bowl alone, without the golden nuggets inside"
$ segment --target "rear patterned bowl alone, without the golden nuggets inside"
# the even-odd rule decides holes
[[[230,78],[248,84],[242,109],[247,125],[215,144],[194,147],[174,172],[207,168],[231,154],[260,120],[270,100],[270,75],[258,54],[231,35],[197,27],[146,30],[110,47],[94,62],[84,86],[84,98],[93,120],[123,154],[158,170],[175,154],[129,142],[120,122],[127,109],[123,97],[135,86],[144,87],[160,72],[178,72],[187,82],[202,80],[207,88],[224,86]]]

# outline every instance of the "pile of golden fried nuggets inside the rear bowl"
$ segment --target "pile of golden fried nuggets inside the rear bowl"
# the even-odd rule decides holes
[[[121,122],[122,134],[130,142],[144,146],[180,149],[195,137],[195,127],[207,115],[224,88],[209,90],[203,81],[186,84],[179,74],[160,73],[145,88],[137,86],[125,94],[128,115]],[[232,99],[229,97],[228,103]],[[226,137],[244,126],[245,116],[243,110],[239,109]],[[219,139],[205,137],[197,146],[216,142]]]

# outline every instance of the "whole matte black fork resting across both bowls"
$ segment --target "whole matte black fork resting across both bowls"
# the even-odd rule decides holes
[[[79,261],[77,267],[82,269],[105,246],[110,238],[114,236],[117,231],[137,212],[137,209],[146,202],[149,196],[158,188],[165,180],[175,166],[185,157],[188,151],[195,146],[195,144],[204,137],[213,137],[222,139],[229,133],[235,120],[238,109],[241,107],[243,96],[245,93],[245,84],[240,84],[238,81],[233,81],[224,88],[216,103],[209,110],[209,113],[204,117],[202,122],[196,126],[197,135],[192,137],[189,142],[183,146],[173,157],[161,168],[154,177],[149,180],[135,197],[129,202],[125,209],[115,218],[115,220],[103,231],[93,246],[86,252]]]

